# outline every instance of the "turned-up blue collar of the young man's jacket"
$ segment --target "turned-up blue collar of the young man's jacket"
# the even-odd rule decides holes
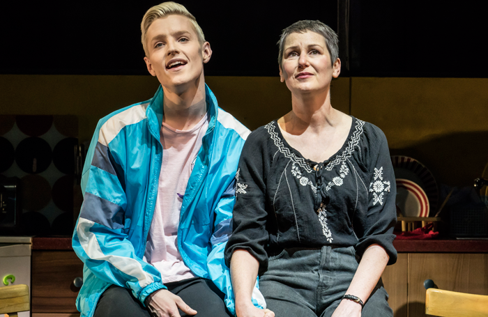
[[[146,109],[146,118],[148,119],[148,127],[153,137],[160,139],[160,131],[162,125],[163,116],[163,100],[164,93],[162,91],[162,86],[160,85],[158,91],[156,91],[154,97],[151,99],[149,106]],[[218,114],[218,103],[213,92],[205,84],[205,101],[207,104],[207,109],[210,114],[210,121],[208,122],[208,132],[211,132],[215,127],[215,121],[217,120]]]

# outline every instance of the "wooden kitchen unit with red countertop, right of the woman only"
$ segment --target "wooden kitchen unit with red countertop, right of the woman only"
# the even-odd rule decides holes
[[[488,295],[488,240],[395,240],[383,284],[395,317],[425,315],[424,281],[446,291]]]

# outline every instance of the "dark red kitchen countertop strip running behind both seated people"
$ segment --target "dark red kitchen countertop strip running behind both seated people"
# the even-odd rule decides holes
[[[488,253],[488,240],[395,240],[400,253]],[[33,250],[73,250],[70,237],[34,237]]]

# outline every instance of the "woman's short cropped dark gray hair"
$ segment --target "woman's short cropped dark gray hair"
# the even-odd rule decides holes
[[[330,29],[329,26],[320,21],[302,20],[291,24],[281,33],[280,40],[277,42],[277,45],[280,47],[280,52],[278,53],[278,64],[280,64],[280,68],[283,60],[284,41],[287,40],[287,37],[291,33],[305,33],[307,31],[318,33],[326,39],[330,61],[334,65],[335,61],[339,58],[339,39],[337,38],[337,34],[333,29]]]

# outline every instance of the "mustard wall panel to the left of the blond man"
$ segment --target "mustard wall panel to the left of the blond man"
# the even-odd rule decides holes
[[[88,141],[103,116],[153,97],[151,76],[0,75],[0,114],[74,114]]]

